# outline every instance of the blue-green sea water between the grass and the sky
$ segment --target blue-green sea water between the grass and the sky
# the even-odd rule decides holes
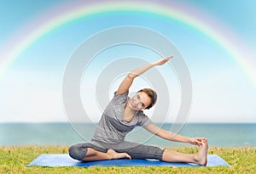
[[[171,130],[172,124],[159,125]],[[70,123],[0,123],[0,145],[58,144],[90,141],[96,124]],[[205,137],[211,147],[256,147],[256,124],[202,124],[190,123],[178,132],[187,137]],[[127,141],[153,144],[160,147],[190,146],[187,143],[170,142],[152,135],[142,127],[126,137]]]

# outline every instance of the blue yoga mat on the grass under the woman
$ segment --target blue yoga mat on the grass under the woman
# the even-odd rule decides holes
[[[73,160],[68,154],[40,154],[27,166],[200,166],[192,163],[170,163],[160,160],[98,160],[91,162],[81,162]],[[207,155],[207,166],[230,166],[217,154]]]

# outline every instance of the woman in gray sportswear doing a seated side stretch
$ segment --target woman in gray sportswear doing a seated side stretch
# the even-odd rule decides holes
[[[129,88],[137,76],[154,66],[166,64],[171,58],[172,56],[160,59],[132,70],[121,82],[113,99],[104,110],[94,137],[89,143],[73,144],[69,148],[69,155],[73,159],[83,161],[135,158],[206,165],[208,150],[206,138],[187,138],[163,130],[143,114],[143,109],[151,108],[156,102],[156,93],[152,89],[142,89],[134,97],[128,98]],[[181,154],[150,145],[125,141],[125,135],[131,132],[135,126],[143,126],[148,132],[169,141],[198,145],[199,151],[197,154]]]

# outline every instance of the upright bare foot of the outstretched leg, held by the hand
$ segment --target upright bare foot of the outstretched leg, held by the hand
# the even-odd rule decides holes
[[[195,162],[199,165],[207,164],[207,152],[208,152],[208,142],[207,139],[202,139],[201,147],[198,153],[195,154]]]

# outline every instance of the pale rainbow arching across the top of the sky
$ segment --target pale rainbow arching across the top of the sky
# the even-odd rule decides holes
[[[230,31],[224,31],[223,29],[217,28],[218,25],[212,25],[210,17],[201,17],[204,15],[196,15],[195,11],[200,11],[192,7],[185,8],[183,4],[182,8],[177,7],[177,4],[160,4],[150,3],[146,1],[108,1],[108,2],[97,2],[97,3],[73,3],[67,4],[62,8],[53,9],[52,13],[40,19],[40,25],[32,25],[26,33],[21,33],[19,36],[15,36],[15,39],[11,42],[11,52],[4,55],[3,62],[0,65],[0,79],[3,77],[3,73],[15,62],[15,59],[19,58],[19,55],[23,53],[26,48],[29,48],[34,42],[40,37],[47,35],[50,31],[55,30],[61,25],[67,24],[73,20],[79,20],[86,16],[115,12],[115,11],[137,11],[142,13],[157,14],[171,20],[177,20],[189,27],[200,31],[205,36],[216,42],[218,46],[223,48],[226,53],[233,58],[238,65],[241,65],[242,70],[246,73],[247,77],[256,86],[256,73],[249,62],[244,59],[245,55],[241,53],[241,48],[236,46],[237,41],[230,40],[227,36]],[[67,8],[67,9],[65,9]],[[188,10],[191,9],[192,10]],[[210,21],[210,22],[209,22]],[[234,38],[234,36],[232,36]],[[10,49],[9,49],[10,50]]]

